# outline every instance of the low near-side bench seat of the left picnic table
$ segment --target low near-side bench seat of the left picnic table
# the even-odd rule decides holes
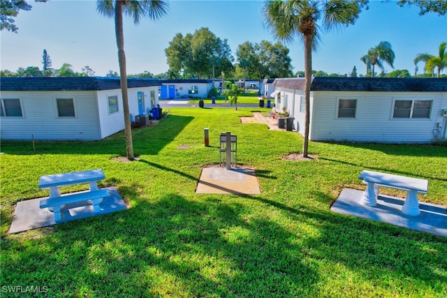
[[[101,211],[101,209],[99,209],[99,203],[102,201],[102,198],[107,197],[108,195],[109,193],[106,189],[67,194],[60,197],[43,199],[39,202],[39,207],[41,209],[52,208],[54,212],[54,221],[58,222],[61,221],[61,209],[64,208],[66,204],[90,201],[93,205],[94,213],[99,213],[99,211]]]

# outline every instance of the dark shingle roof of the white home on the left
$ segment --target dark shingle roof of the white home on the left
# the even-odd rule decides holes
[[[160,86],[159,80],[127,79],[127,87]],[[1,77],[1,91],[91,91],[120,89],[115,77]]]

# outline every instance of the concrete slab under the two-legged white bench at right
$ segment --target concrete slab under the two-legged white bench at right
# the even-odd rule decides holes
[[[405,199],[379,195],[376,207],[367,207],[360,204],[362,195],[363,191],[344,188],[330,209],[339,214],[368,218],[402,228],[447,237],[447,209],[445,206],[419,202],[420,215],[409,216],[400,211]]]

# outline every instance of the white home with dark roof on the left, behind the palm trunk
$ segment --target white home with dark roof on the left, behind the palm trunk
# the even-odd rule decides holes
[[[128,80],[129,112],[148,114],[159,80]],[[124,129],[117,78],[2,77],[1,140],[101,140]]]

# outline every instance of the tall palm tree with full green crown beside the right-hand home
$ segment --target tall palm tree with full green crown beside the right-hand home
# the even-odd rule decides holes
[[[302,155],[307,157],[309,146],[310,85],[312,82],[312,50],[318,45],[319,27],[317,21],[323,16],[325,29],[356,22],[367,0],[274,0],[263,6],[264,22],[274,38],[292,42],[299,38],[305,47],[305,135]]]

